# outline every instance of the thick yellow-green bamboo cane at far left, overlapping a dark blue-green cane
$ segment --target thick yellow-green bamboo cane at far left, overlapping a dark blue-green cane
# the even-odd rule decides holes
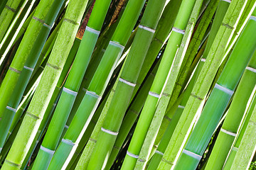
[[[11,62],[11,66],[9,67],[6,77],[1,84],[0,96],[3,100],[0,102],[0,118],[2,118],[4,109],[6,108],[9,98],[11,97],[18,81],[18,77],[21,74],[29,53],[31,52],[33,42],[36,41],[37,35],[43,27],[43,21],[52,3],[53,1],[45,0],[38,4],[33,20],[31,20],[31,23],[21,40],[21,44],[18,47],[16,55],[14,56],[14,60]]]

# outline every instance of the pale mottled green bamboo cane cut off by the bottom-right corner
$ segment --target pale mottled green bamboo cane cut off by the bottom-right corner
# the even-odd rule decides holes
[[[230,170],[234,169],[249,169],[252,157],[255,154],[256,139],[256,108],[254,109],[250,121],[245,130],[245,134],[242,137],[238,153],[235,155],[235,159]]]

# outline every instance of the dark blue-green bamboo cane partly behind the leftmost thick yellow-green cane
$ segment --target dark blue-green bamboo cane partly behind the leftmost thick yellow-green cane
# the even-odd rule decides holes
[[[4,145],[4,141],[6,140],[7,132],[11,126],[11,122],[16,113],[16,109],[18,107],[18,103],[21,101],[21,97],[25,88],[28,84],[29,79],[31,78],[31,74],[36,65],[39,55],[43,49],[43,45],[46,42],[46,38],[50,33],[50,29],[53,26],[55,18],[62,6],[64,0],[55,0],[53,5],[50,7],[48,11],[48,15],[46,16],[45,23],[43,23],[43,28],[38,34],[38,38],[36,39],[31,53],[28,55],[28,59],[23,67],[23,71],[17,81],[18,86],[14,89],[15,93],[11,96],[11,101],[6,106],[4,111],[3,118],[0,122],[0,147]]]

